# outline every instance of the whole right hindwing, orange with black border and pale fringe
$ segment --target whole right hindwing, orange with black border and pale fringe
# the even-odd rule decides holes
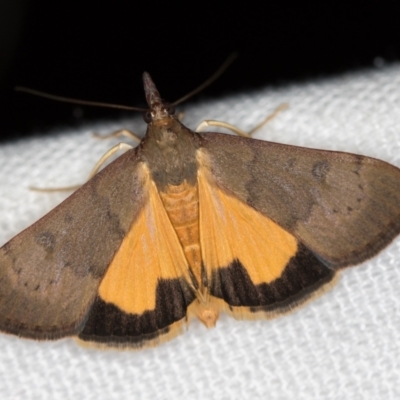
[[[238,319],[271,318],[333,286],[335,271],[274,221],[221,190],[204,161],[199,225],[209,309]]]

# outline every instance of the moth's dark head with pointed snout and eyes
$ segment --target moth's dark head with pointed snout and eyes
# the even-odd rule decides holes
[[[148,72],[143,73],[143,85],[147,104],[150,108],[143,114],[145,122],[148,124],[151,122],[162,123],[163,121],[173,117],[175,114],[175,106],[166,103],[161,99],[160,93]]]

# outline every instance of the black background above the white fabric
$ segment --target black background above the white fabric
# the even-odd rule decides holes
[[[200,97],[400,59],[395,1],[257,4],[1,0],[0,140],[127,114],[16,93],[15,85],[143,106],[144,70],[173,101],[202,83],[233,51],[239,52],[238,60]]]

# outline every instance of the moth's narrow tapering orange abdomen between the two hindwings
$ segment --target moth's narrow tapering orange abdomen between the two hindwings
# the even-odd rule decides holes
[[[199,234],[199,194],[197,185],[185,180],[180,185],[167,185],[160,192],[165,210],[171,221],[186,259],[197,280],[201,284],[201,250]]]

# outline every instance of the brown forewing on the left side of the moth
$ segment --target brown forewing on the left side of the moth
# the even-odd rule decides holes
[[[146,202],[133,149],[0,249],[0,330],[80,331],[114,253]]]

